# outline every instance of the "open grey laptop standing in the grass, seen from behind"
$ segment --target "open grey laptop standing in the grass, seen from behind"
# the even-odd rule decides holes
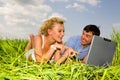
[[[86,64],[108,66],[112,63],[117,43],[100,36],[94,36],[88,52]]]

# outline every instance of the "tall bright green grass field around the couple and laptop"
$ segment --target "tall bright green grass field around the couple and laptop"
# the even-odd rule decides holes
[[[117,42],[116,54],[108,67],[90,67],[70,60],[65,64],[28,62],[23,54],[27,40],[0,39],[0,80],[119,80],[120,33],[111,39]]]

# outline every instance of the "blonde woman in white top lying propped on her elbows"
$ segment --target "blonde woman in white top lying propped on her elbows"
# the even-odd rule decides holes
[[[62,44],[62,38],[64,36],[64,20],[58,17],[52,17],[46,20],[40,27],[39,35],[30,35],[30,41],[28,42],[25,50],[25,56],[28,60],[34,62],[48,62],[53,60],[60,63],[66,60],[67,56],[70,56],[68,50],[61,56],[61,53],[66,48]],[[66,48],[67,49],[67,48]],[[58,54],[59,52],[59,54]],[[54,55],[56,54],[56,56]],[[59,57],[57,57],[57,54]]]

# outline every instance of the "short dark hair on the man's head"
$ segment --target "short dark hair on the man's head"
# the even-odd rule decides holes
[[[92,32],[93,35],[97,35],[97,36],[100,35],[99,27],[97,27],[96,25],[93,25],[93,24],[89,24],[89,25],[85,26],[83,30],[86,32]]]

